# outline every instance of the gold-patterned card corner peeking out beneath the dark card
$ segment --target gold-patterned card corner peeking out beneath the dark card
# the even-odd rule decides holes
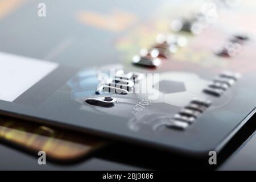
[[[105,146],[108,141],[92,135],[37,125],[10,117],[0,118],[0,140],[32,154],[46,152],[57,162],[75,162]]]

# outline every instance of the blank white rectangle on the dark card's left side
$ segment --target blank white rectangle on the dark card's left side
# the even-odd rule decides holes
[[[13,102],[57,67],[57,63],[0,52],[0,100]]]

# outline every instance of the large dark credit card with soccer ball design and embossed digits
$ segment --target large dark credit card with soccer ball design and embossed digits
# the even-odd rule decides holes
[[[1,114],[201,155],[255,113],[253,2],[2,5]]]

